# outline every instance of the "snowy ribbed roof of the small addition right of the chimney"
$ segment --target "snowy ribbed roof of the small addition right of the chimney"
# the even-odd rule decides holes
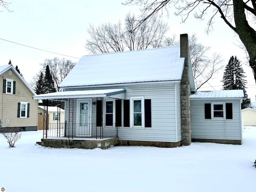
[[[244,98],[243,90],[198,91],[190,95],[194,98]]]

